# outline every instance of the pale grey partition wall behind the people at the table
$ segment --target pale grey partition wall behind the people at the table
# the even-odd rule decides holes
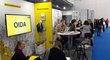
[[[85,20],[87,20],[87,9],[63,11],[63,15],[69,15],[72,16],[72,19],[81,19],[82,22],[84,22]],[[67,20],[67,22],[70,23],[72,19]]]

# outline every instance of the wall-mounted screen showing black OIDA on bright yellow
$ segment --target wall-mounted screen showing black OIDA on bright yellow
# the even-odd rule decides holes
[[[7,36],[14,36],[31,32],[31,16],[19,14],[6,14]]]

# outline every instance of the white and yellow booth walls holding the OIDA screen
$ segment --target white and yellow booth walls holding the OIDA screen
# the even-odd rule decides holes
[[[45,48],[51,48],[53,40],[53,22],[52,22],[52,3],[42,2],[33,3],[27,1],[7,1],[0,2],[4,11],[0,10],[0,26],[5,33],[1,33],[0,39],[0,60],[11,60],[14,48],[19,40],[25,40],[26,48],[24,53],[36,49],[36,42],[44,41]],[[38,24],[42,23],[43,30],[38,31]],[[1,27],[0,27],[1,28]],[[0,31],[0,32],[3,32]],[[1,47],[2,46],[2,47]],[[33,58],[32,58],[33,59]]]

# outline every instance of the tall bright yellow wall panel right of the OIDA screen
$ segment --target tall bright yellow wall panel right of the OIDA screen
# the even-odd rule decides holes
[[[46,31],[44,34],[46,35],[46,48],[52,47],[50,42],[53,39],[53,31],[52,31],[52,3],[51,2],[43,2],[35,4],[35,24],[37,25],[40,20],[43,21],[43,24],[46,26]],[[36,40],[42,40],[42,36],[36,29]]]

